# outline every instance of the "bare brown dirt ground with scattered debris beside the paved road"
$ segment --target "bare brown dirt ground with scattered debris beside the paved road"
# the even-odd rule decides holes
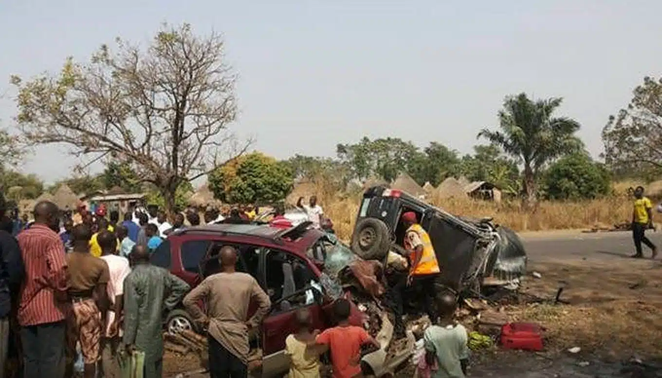
[[[532,263],[522,297],[543,303],[514,304],[504,299],[491,310],[509,320],[538,322],[545,328],[545,352],[476,352],[471,377],[662,377],[662,263],[624,260],[600,263]],[[561,300],[554,305],[559,287]],[[526,303],[529,302],[529,303]],[[569,348],[581,348],[571,354]],[[643,365],[627,363],[637,356]],[[201,367],[195,355],[164,357],[164,376]],[[411,377],[408,367],[399,374]]]

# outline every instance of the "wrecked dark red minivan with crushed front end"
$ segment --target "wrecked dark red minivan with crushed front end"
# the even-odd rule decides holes
[[[151,260],[195,287],[204,277],[219,271],[220,248],[234,246],[239,252],[237,270],[255,277],[271,299],[271,309],[251,343],[252,348],[262,350],[262,377],[279,376],[289,369],[285,338],[296,330],[295,312],[308,308],[314,328],[324,330],[334,325],[332,303],[344,295],[342,288],[322,273],[327,250],[339,243],[309,226],[310,222],[285,229],[265,224],[184,228],[170,234]],[[205,307],[204,303],[200,305]],[[250,312],[254,310],[252,307]],[[353,305],[350,321],[363,326],[363,320],[363,313]],[[179,307],[167,314],[166,328],[177,332],[195,330],[196,326]]]

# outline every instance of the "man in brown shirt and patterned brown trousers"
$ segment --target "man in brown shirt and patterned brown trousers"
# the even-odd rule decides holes
[[[102,232],[108,232],[103,230]],[[67,254],[69,297],[71,314],[68,316],[67,341],[71,356],[76,342],[81,344],[85,373],[93,378],[96,365],[101,359],[100,342],[103,320],[101,314],[108,310],[106,285],[110,280],[108,264],[101,258],[89,254],[91,228],[84,223],[73,227],[73,252]],[[71,362],[68,372],[71,371]]]

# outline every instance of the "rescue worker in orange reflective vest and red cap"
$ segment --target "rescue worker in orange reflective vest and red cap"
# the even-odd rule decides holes
[[[402,223],[406,226],[404,234],[404,249],[409,254],[409,275],[407,285],[416,285],[422,289],[423,308],[432,324],[436,324],[438,312],[436,311],[437,296],[442,293],[444,286],[440,282],[441,271],[437,256],[434,253],[430,236],[418,224],[416,213],[402,214]]]

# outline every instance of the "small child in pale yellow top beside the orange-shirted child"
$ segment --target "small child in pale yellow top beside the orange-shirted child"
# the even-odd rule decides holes
[[[314,345],[318,330],[310,333],[310,312],[303,308],[295,314],[297,333],[285,339],[285,355],[290,358],[287,378],[320,378],[320,354],[326,348]]]

